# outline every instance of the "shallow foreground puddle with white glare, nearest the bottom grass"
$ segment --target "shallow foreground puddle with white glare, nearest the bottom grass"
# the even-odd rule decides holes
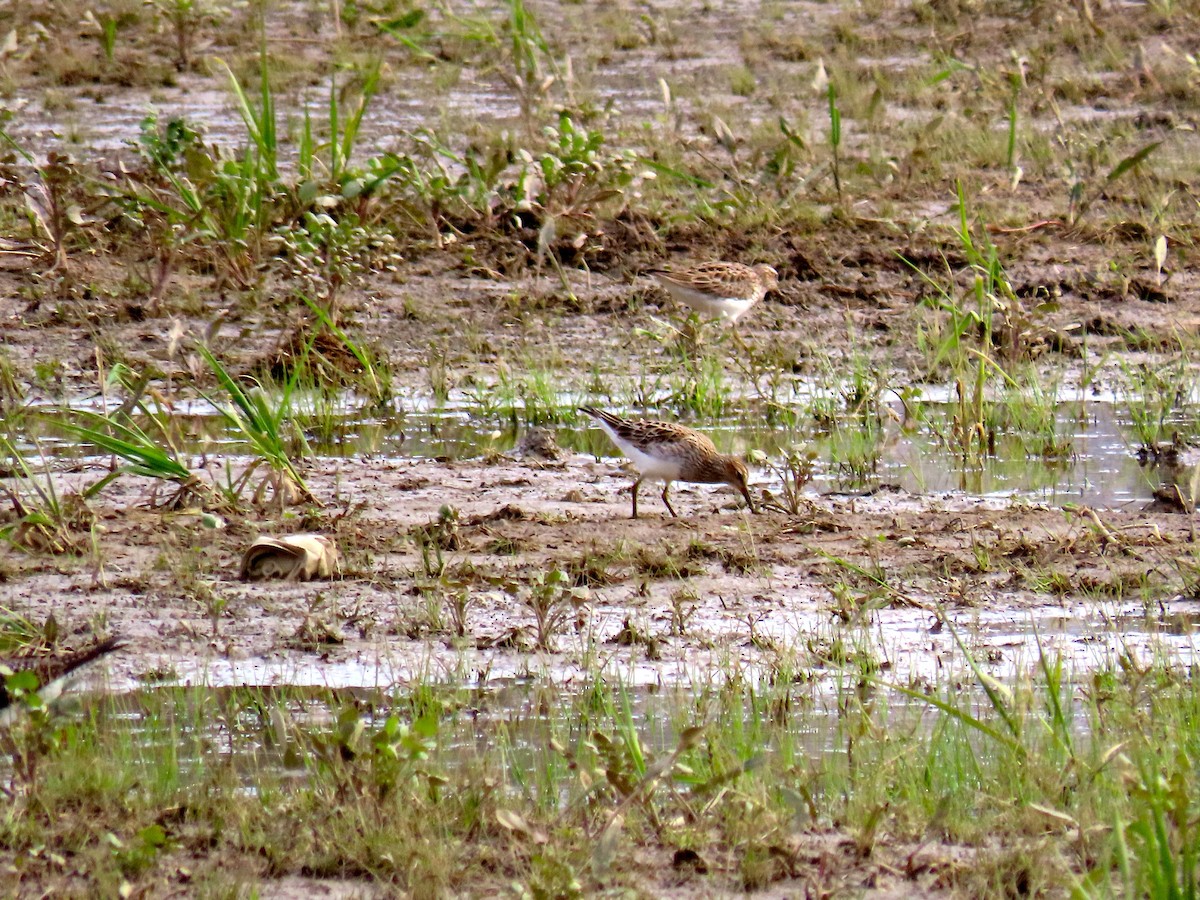
[[[1051,664],[1062,660],[1067,684],[1072,684],[1098,668],[1118,665],[1146,666],[1170,659],[1177,666],[1194,666],[1200,601],[1176,599],[1148,608],[1138,604],[1063,604],[1022,612],[962,611],[955,618],[961,640],[988,674],[1009,684],[1018,679],[1038,684],[1038,660],[1044,653]],[[762,635],[791,641],[828,631],[827,622],[799,616],[772,617],[756,628]],[[954,636],[948,629],[935,628],[928,613],[880,611],[869,628],[856,634],[851,638],[851,630],[846,631],[856,653],[870,653],[869,644],[876,644],[874,652],[881,654],[883,667],[875,674],[881,682],[916,686],[940,697],[949,694],[961,708],[986,715],[989,701]],[[622,664],[605,673],[604,683],[611,690],[601,694],[623,709],[606,709],[604,703],[594,704],[595,682],[587,673],[556,666],[547,658],[508,654],[485,661],[486,655],[461,654],[457,670],[474,670],[475,677],[457,679],[455,667],[445,668],[444,661],[433,672],[428,662],[412,666],[383,648],[356,660],[215,659],[203,668],[178,672],[168,684],[148,688],[110,682],[108,688],[118,694],[106,700],[103,709],[115,708],[106,715],[149,749],[166,749],[175,742],[182,769],[203,764],[200,755],[212,750],[234,757],[248,776],[247,790],[253,790],[254,776],[262,770],[296,764],[274,739],[278,722],[271,719],[272,708],[305,733],[334,731],[338,710],[348,706],[364,715],[368,728],[380,726],[392,712],[409,722],[414,718],[413,685],[419,684],[422,702],[439,710],[438,740],[445,751],[443,761],[452,767],[469,763],[476,745],[492,745],[498,739],[520,761],[524,755],[545,752],[551,738],[569,738],[565,743],[572,745],[592,728],[611,733],[625,720],[644,749],[670,751],[680,722],[703,724],[704,710],[714,702],[720,706],[714,695],[772,691],[792,698],[787,720],[791,749],[812,758],[844,751],[839,738],[844,700],[847,691],[858,690],[862,678],[853,662],[845,670],[804,668],[794,673],[802,677],[782,683],[779,670],[731,665],[728,659],[714,665],[712,659],[691,656],[673,673],[653,665]],[[178,690],[191,685],[200,689]],[[251,690],[242,690],[247,688]],[[931,709],[883,685],[871,696],[886,704],[889,716]],[[1081,702],[1078,695],[1075,700]],[[1088,727],[1086,716],[1072,720],[1080,732]],[[751,724],[748,718],[746,726]],[[187,757],[188,748],[198,754],[194,760]]]

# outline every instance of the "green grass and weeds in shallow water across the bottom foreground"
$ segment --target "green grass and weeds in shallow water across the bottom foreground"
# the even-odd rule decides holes
[[[353,697],[167,688],[92,701],[0,736],[0,853],[26,886],[59,877],[54,854],[70,853],[97,890],[355,872],[455,893],[644,890],[635,860],[653,854],[692,860],[696,886],[719,890],[792,884],[818,832],[857,847],[828,877],[878,866],[916,888],[934,866],[972,896],[1187,895],[1200,847],[1192,679],[1133,659],[1074,679],[1043,650],[1001,684],[960,642],[947,662],[962,671],[898,684],[839,634],[818,648],[842,674],[832,694],[781,656],[762,683],[727,673],[649,692],[594,673],[580,691],[426,677]],[[186,822],[163,816],[185,802]],[[797,823],[800,844],[780,845]],[[725,854],[731,868],[709,864]]]

